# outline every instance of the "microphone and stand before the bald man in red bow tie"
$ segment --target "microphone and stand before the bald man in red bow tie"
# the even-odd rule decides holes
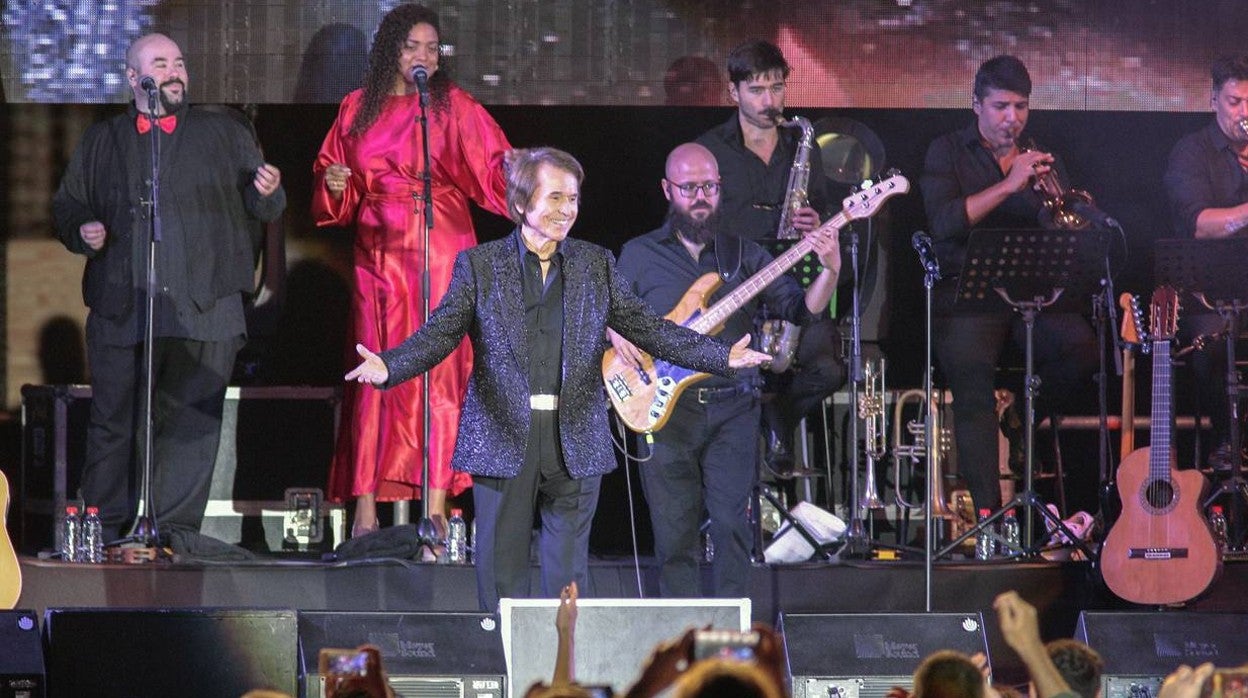
[[[142,471],[139,476],[139,511],[135,516],[135,524],[120,543],[137,544],[137,547],[155,548],[160,542],[160,526],[156,522],[156,501],[152,496],[152,388],[154,347],[156,341],[156,247],[161,241],[160,220],[160,146],[161,130],[156,124],[156,107],[158,105],[160,90],[147,91],[147,120],[151,125],[151,179],[147,182],[149,200],[144,201],[147,207],[149,241],[147,241],[147,291],[144,293],[144,375],[142,375],[142,430],[144,451]]]

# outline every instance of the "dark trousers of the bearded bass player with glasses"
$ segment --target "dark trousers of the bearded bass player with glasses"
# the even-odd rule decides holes
[[[746,511],[758,478],[759,398],[753,391],[701,405],[686,390],[640,465],[650,506],[659,594],[700,597],[703,511],[710,514],[713,596],[749,596]]]

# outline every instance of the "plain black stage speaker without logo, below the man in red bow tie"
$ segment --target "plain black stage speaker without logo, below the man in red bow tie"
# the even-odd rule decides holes
[[[49,697],[298,692],[295,611],[49,608]]]

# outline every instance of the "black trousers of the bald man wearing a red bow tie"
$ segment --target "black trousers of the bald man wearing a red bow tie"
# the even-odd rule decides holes
[[[198,531],[221,442],[226,386],[241,337],[152,345],[152,497],[161,531]],[[100,507],[106,541],[121,536],[137,508],[142,468],[142,345],[87,337],[91,417],[81,494]],[[150,512],[149,512],[150,513]]]

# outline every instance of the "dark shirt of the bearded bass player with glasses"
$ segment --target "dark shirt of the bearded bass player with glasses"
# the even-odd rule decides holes
[[[738,245],[740,255],[735,250]],[[720,250],[716,253],[718,246],[734,248]],[[735,261],[738,257],[740,266],[734,263],[733,268],[725,268],[726,280],[724,280],[724,275],[720,275],[724,282],[711,293],[706,303],[711,306],[771,263],[771,255],[753,241],[720,235],[703,247],[695,261],[680,238],[676,237],[675,231],[664,224],[663,227],[624,243],[617,270],[620,276],[628,280],[629,288],[638,297],[645,301],[654,312],[665,315],[676,307],[694,281],[705,273],[720,273],[720,258]],[[719,337],[731,343],[745,333],[753,332],[751,318],[760,302],[766,303],[768,315],[774,317],[801,325],[815,320],[815,316],[806,308],[806,295],[797,282],[789,275],[780,275],[780,278],[729,316]],[[741,370],[738,371],[736,380],[753,380],[750,377],[756,373],[756,368]],[[736,381],[713,376],[700,383],[700,387],[728,386],[734,382]]]

